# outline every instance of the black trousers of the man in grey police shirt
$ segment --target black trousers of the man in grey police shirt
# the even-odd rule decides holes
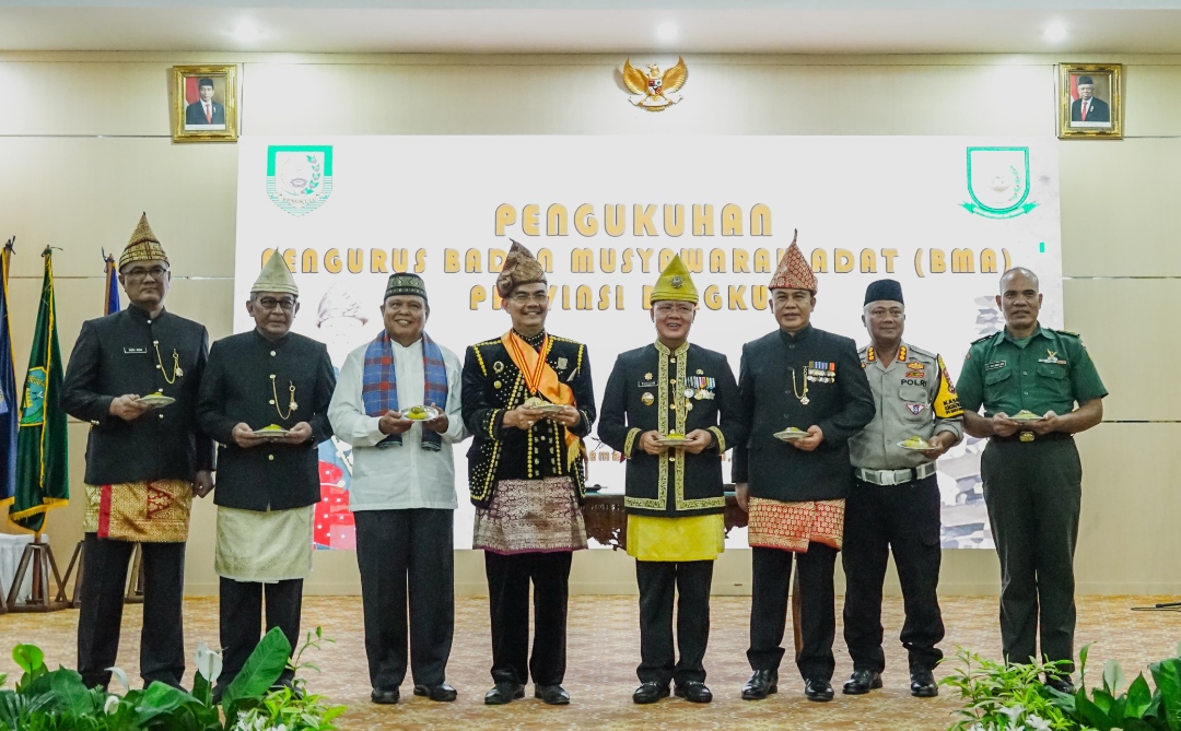
[[[899,639],[911,670],[933,670],[944,653],[939,611],[939,483],[934,475],[900,485],[855,481],[844,501],[844,642],[854,670],[882,672],[882,581],[890,550],[906,621]]]

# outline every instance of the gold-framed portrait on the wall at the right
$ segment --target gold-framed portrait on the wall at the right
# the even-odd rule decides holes
[[[1123,64],[1058,64],[1058,137],[1123,138]]]

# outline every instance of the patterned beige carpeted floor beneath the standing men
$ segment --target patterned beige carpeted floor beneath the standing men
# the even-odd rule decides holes
[[[1102,661],[1120,660],[1129,678],[1149,661],[1169,657],[1181,639],[1181,614],[1169,612],[1140,613],[1129,607],[1150,605],[1153,598],[1108,596],[1083,598],[1078,602],[1079,642],[1094,642],[1092,663],[1096,675]],[[837,602],[840,607],[840,600]],[[957,645],[979,650],[990,657],[999,654],[997,600],[993,598],[950,598],[944,600],[947,624],[945,652]],[[137,675],[137,652],[141,618],[138,606],[128,606],[119,665],[132,678]],[[334,703],[350,706],[340,720],[342,730],[370,729],[521,729],[529,731],[575,729],[800,729],[810,731],[864,730],[942,730],[951,722],[957,701],[947,691],[934,699],[911,698],[907,688],[906,654],[898,642],[901,626],[901,600],[888,598],[885,609],[886,657],[889,667],[886,687],[869,696],[840,694],[840,683],[852,670],[837,628],[837,666],[834,685],[836,699],[828,704],[809,703],[795,667],[782,668],[779,694],[763,701],[744,701],[739,688],[750,674],[745,650],[748,640],[749,598],[716,596],[710,650],[705,657],[707,684],[715,701],[707,706],[680,699],[663,700],[654,706],[637,706],[631,701],[639,663],[637,600],[632,596],[576,596],[570,601],[569,666],[566,688],[573,703],[549,707],[533,699],[508,706],[488,707],[483,694],[490,685],[488,606],[481,598],[459,598],[456,602],[456,638],[448,678],[458,688],[454,704],[436,704],[411,696],[407,677],[402,686],[403,703],[374,706],[368,701],[365,644],[361,629],[360,599],[308,598],[304,602],[306,629],[324,627],[325,637],[335,640],[324,651],[305,658],[319,665],[321,673],[309,672],[311,688],[328,696]],[[0,672],[15,672],[8,648],[17,642],[33,642],[45,650],[51,666],[74,666],[74,638],[78,613],[7,614],[0,616]],[[789,631],[790,632],[790,631]],[[185,601],[185,645],[198,640],[217,644],[216,599]],[[790,644],[790,633],[787,642]],[[789,648],[788,657],[791,651]],[[1097,661],[1096,661],[1097,659]],[[190,663],[191,666],[191,663]],[[191,675],[191,667],[190,667]],[[937,672],[942,677],[946,671]],[[9,680],[9,684],[12,680]]]

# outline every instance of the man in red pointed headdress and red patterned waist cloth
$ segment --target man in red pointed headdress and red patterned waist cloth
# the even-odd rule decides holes
[[[849,338],[811,326],[816,275],[795,239],[769,286],[775,332],[743,346],[738,374],[746,442],[735,446],[738,504],[750,515],[750,650],[743,698],[778,690],[792,555],[809,700],[833,699],[833,570],[853,488],[849,437],[874,418],[873,392]]]

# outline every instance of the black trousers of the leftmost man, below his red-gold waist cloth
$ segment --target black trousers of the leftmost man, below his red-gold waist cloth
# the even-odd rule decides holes
[[[144,619],[139,633],[139,677],[180,687],[184,675],[184,543],[142,543]],[[78,613],[78,673],[89,687],[106,687],[119,652],[128,563],[136,544],[87,533],[83,548],[81,609]]]

